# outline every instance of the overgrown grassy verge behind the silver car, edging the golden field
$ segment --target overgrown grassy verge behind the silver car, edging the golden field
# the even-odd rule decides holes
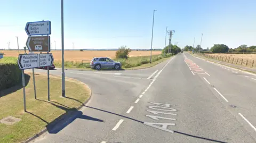
[[[114,61],[121,62],[122,64],[122,69],[131,69],[134,67],[139,67],[139,68],[147,68],[150,66],[153,66],[153,63],[156,61],[162,60],[163,58],[167,58],[172,56],[171,54],[166,54],[165,56],[163,55],[153,55],[151,57],[151,64],[150,63],[150,56],[136,56],[136,57],[129,57],[127,59],[125,58],[117,58],[113,59]],[[159,62],[158,62],[159,63]],[[157,64],[157,63],[156,63]],[[60,62],[55,62],[54,65],[56,67],[61,67]],[[142,66],[144,65],[144,66]],[[83,68],[83,69],[90,69],[89,63],[80,63],[80,62],[73,62],[73,61],[65,61],[65,68]]]

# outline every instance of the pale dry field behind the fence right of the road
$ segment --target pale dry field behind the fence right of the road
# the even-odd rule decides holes
[[[256,54],[205,54],[205,55],[215,55],[215,56],[227,56],[230,58],[243,58],[244,60],[256,60]]]

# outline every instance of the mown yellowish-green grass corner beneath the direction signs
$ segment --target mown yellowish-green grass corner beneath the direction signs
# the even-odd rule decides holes
[[[15,90],[12,88],[2,90],[0,92],[0,119],[10,115],[20,118],[21,121],[13,125],[0,123],[0,142],[21,142],[30,138],[60,115],[79,107],[81,105],[80,102],[84,103],[91,94],[90,89],[84,83],[67,78],[66,96],[74,99],[63,98],[61,97],[61,78],[51,76],[51,102],[48,102],[47,76],[45,74],[36,74],[36,92],[37,99],[39,99],[36,100],[34,99],[33,75],[27,73],[26,77],[27,79],[30,77],[26,86],[27,111],[45,121],[23,111],[23,89],[21,87]]]

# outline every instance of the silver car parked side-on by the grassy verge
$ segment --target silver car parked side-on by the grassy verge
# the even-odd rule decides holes
[[[100,70],[101,68],[119,70],[121,69],[122,64],[120,62],[115,62],[108,57],[93,57],[90,66],[96,70]]]

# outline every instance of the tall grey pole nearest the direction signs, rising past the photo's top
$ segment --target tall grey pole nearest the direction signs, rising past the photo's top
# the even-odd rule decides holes
[[[65,97],[65,71],[64,71],[64,20],[63,20],[63,0],[61,0],[61,54],[62,54],[62,96]]]

